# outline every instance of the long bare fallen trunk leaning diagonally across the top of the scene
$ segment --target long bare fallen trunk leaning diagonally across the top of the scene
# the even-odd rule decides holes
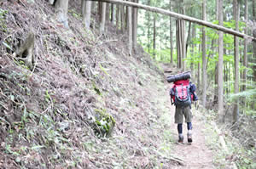
[[[132,7],[137,7],[137,8],[143,8],[143,9],[151,11],[151,12],[169,15],[169,16],[172,16],[172,17],[180,19],[180,20],[187,20],[187,21],[196,23],[198,25],[204,25],[204,26],[210,27],[212,29],[216,29],[218,31],[224,31],[225,33],[229,33],[231,35],[236,35],[237,37],[242,37],[242,38],[247,37],[247,38],[253,39],[253,41],[256,41],[255,37],[251,37],[251,36],[248,36],[248,35],[245,35],[245,34],[239,32],[239,31],[234,31],[232,29],[225,28],[223,25],[215,25],[215,24],[212,24],[211,22],[207,22],[204,20],[198,20],[198,19],[186,16],[184,14],[177,14],[177,13],[174,13],[169,10],[162,9],[162,8],[155,8],[155,7],[150,7],[147,5],[140,4],[140,3],[131,3],[131,2],[122,1],[122,0],[101,0],[101,1],[108,2],[108,3],[123,4],[126,6],[132,6]]]

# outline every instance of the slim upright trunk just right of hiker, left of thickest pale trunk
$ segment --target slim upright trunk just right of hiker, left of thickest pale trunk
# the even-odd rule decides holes
[[[203,0],[202,3],[202,19],[207,20],[207,6],[206,0]],[[201,81],[202,81],[202,105],[206,107],[207,102],[207,36],[205,27],[202,27],[202,73],[201,73]]]

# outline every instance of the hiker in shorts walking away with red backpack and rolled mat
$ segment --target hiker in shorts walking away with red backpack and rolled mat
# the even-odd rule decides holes
[[[192,100],[198,100],[195,94],[195,84],[189,82],[190,72],[179,74],[177,76],[167,77],[168,82],[173,82],[170,90],[171,103],[175,104],[174,122],[177,123],[178,143],[183,143],[183,116],[188,127],[188,143],[192,143],[192,113],[191,103]],[[174,78],[173,78],[174,77]]]

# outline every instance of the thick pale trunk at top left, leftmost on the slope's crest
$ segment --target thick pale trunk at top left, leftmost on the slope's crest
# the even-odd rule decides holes
[[[67,21],[68,0],[57,0],[55,3],[55,9],[57,13],[57,20],[66,28],[69,28]]]

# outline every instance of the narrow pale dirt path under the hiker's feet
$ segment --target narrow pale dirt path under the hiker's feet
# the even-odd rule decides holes
[[[169,90],[172,84],[166,82],[166,105],[171,111],[172,125],[171,130],[174,133],[174,138],[177,140],[177,124],[174,124],[174,105],[170,104],[170,98],[168,97]],[[183,123],[183,135],[184,144],[174,144],[173,152],[177,157],[180,157],[185,161],[186,166],[176,166],[175,168],[186,168],[186,169],[211,169],[215,168],[213,162],[213,152],[207,147],[206,139],[204,135],[205,125],[199,120],[198,115],[193,113],[193,144],[187,144],[187,124]],[[175,135],[176,134],[176,135]]]

